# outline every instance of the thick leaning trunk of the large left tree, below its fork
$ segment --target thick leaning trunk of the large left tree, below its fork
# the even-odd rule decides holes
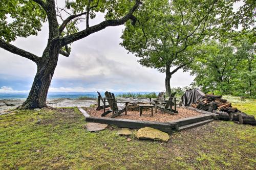
[[[57,66],[59,48],[53,48],[46,57],[42,57],[37,64],[37,72],[27,100],[20,106],[21,109],[46,107],[48,89]]]

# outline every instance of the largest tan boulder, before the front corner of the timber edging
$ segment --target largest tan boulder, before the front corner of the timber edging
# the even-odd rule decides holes
[[[167,133],[150,127],[139,129],[135,136],[138,139],[150,139],[161,141],[168,141],[170,138]]]

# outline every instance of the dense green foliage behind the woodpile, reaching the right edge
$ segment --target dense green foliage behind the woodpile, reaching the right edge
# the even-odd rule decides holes
[[[252,33],[239,34],[228,41],[211,41],[200,48],[204,55],[194,61],[194,86],[205,92],[254,95],[255,40]]]

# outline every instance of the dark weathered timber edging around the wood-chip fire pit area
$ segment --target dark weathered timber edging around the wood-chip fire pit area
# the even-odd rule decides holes
[[[140,120],[131,120],[131,119],[117,119],[117,118],[106,118],[106,117],[92,117],[81,107],[78,107],[79,111],[86,118],[87,122],[100,123],[100,124],[108,124],[112,126],[117,126],[120,128],[130,128],[130,129],[140,129],[144,127],[151,127],[154,129],[158,129],[163,132],[167,132],[172,134],[173,131],[178,131],[180,126],[188,125],[191,123],[200,122],[209,118],[216,118],[213,113],[203,115],[187,117],[183,119],[173,120],[171,122],[149,122],[149,121],[140,121]]]

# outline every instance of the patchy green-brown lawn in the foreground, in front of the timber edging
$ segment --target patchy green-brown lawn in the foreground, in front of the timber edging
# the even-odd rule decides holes
[[[40,123],[37,123],[38,119]],[[256,129],[214,121],[167,143],[84,129],[76,108],[0,116],[0,169],[254,169]],[[133,130],[135,133],[136,130]]]

